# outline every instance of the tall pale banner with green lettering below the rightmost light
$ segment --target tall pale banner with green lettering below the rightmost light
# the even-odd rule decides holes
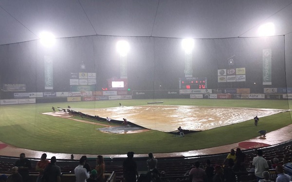
[[[272,50],[263,50],[263,85],[272,84]]]

